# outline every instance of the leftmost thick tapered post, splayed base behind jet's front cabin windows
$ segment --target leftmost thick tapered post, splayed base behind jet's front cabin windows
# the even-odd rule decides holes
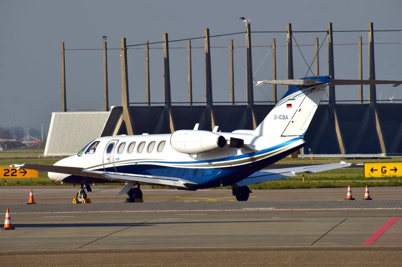
[[[126,39],[121,38],[121,104],[123,106],[123,120],[127,129],[127,134],[134,134],[134,124],[131,119],[130,101],[128,93],[128,76],[127,76],[127,45]]]

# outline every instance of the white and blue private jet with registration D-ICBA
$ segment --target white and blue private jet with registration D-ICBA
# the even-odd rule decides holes
[[[178,130],[173,134],[107,136],[86,145],[78,154],[54,165],[11,165],[49,172],[49,178],[81,184],[78,201],[91,192],[92,183],[121,183],[117,194],[142,202],[140,185],[160,185],[181,190],[232,186],[238,201],[246,201],[250,184],[350,166],[346,162],[262,170],[302,148],[310,121],[327,85],[394,84],[402,81],[334,80],[330,76],[300,80],[258,82],[292,85],[255,130],[231,133]]]

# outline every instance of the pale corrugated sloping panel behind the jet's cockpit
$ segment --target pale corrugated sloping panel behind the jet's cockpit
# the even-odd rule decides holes
[[[77,154],[90,141],[100,137],[110,111],[53,112],[45,156]]]

